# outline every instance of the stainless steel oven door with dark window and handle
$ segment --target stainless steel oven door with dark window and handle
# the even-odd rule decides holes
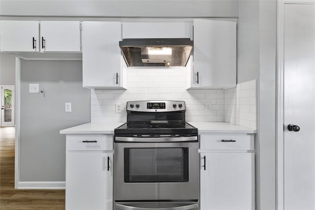
[[[183,141],[173,142],[179,139]],[[195,141],[189,142],[191,139]],[[197,137],[119,140],[115,141],[114,149],[116,202],[198,200]]]

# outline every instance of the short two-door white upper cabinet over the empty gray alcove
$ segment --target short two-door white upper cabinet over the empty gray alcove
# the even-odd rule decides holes
[[[79,21],[0,21],[2,52],[80,52]]]

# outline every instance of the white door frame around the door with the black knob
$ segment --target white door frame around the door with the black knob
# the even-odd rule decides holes
[[[276,209],[284,210],[284,4],[315,4],[315,0],[277,1],[276,75]]]

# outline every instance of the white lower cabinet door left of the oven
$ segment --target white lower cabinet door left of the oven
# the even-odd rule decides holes
[[[67,153],[65,209],[113,210],[112,166],[113,153]]]

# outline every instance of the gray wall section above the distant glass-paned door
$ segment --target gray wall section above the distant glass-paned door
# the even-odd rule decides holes
[[[15,85],[15,57],[0,53],[0,85]]]

